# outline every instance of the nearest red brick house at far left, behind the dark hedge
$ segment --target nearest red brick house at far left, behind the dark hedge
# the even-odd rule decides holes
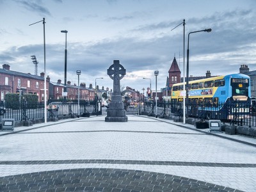
[[[46,87],[48,94],[50,78],[47,77]],[[4,64],[0,68],[0,98],[4,100],[6,93],[19,93],[38,95],[38,101],[44,100],[44,73],[40,76],[25,74],[10,70],[10,65]]]

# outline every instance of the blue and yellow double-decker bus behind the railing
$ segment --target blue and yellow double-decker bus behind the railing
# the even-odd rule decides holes
[[[250,77],[244,74],[210,77],[189,81],[188,114],[202,118],[234,120],[250,113]],[[182,102],[183,83],[173,84],[172,102]]]

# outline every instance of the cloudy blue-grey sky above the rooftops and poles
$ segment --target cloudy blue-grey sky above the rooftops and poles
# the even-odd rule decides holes
[[[142,92],[159,70],[157,90],[163,88],[174,56],[183,77],[189,36],[189,75],[212,76],[239,72],[246,64],[256,70],[255,0],[0,0],[0,65],[35,74],[31,55],[44,71],[44,25],[29,26],[45,17],[46,75],[64,83],[67,30],[67,81],[113,88],[107,69],[120,60],[127,75],[122,86]],[[174,30],[172,30],[175,28]],[[172,31],[171,31],[172,30]],[[186,56],[186,53],[185,53]],[[186,58],[186,57],[185,57]],[[186,61],[185,61],[186,63]]]

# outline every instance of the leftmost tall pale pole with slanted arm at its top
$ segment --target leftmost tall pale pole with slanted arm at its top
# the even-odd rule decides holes
[[[46,95],[46,64],[45,64],[45,19],[40,20],[38,22],[43,22],[44,24],[44,123],[47,123],[47,95]],[[33,24],[36,24],[38,22],[35,22]],[[30,24],[29,26],[33,25]]]

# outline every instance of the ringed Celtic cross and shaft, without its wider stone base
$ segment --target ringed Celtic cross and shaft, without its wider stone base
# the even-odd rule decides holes
[[[120,95],[120,79],[126,74],[125,68],[120,65],[119,60],[114,60],[114,64],[108,68],[108,75],[113,79],[113,94]]]

